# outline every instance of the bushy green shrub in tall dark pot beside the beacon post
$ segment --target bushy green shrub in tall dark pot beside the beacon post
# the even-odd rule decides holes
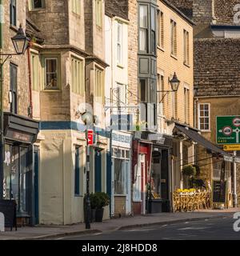
[[[108,194],[104,192],[96,192],[93,194],[94,202],[96,202],[96,215],[95,221],[102,222],[104,206],[108,206],[110,204],[110,198]]]

